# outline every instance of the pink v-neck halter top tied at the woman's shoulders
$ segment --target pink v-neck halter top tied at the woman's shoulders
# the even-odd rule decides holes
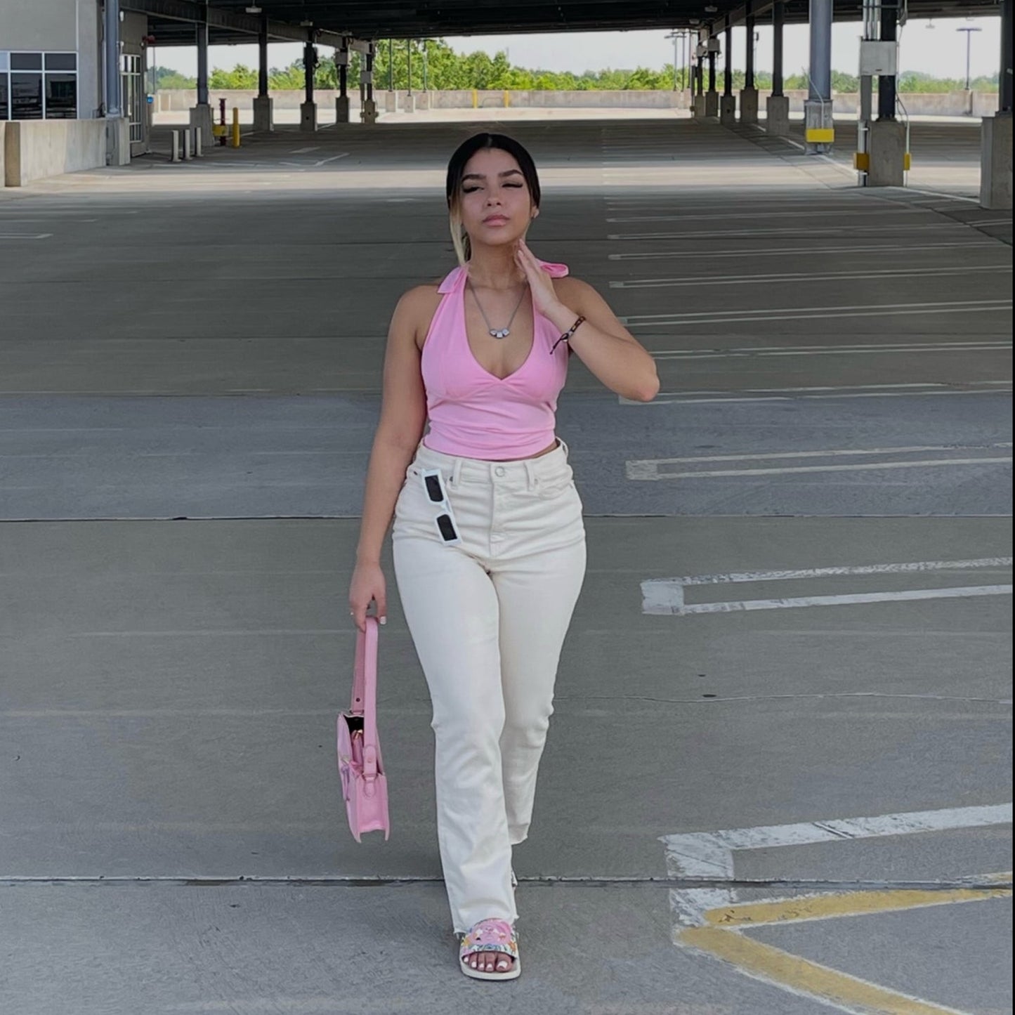
[[[553,278],[567,274],[566,265],[541,263]],[[553,444],[557,396],[567,379],[570,350],[562,342],[551,355],[558,329],[534,314],[526,361],[506,378],[490,374],[469,346],[467,280],[466,270],[456,268],[437,289],[444,298],[426,333],[421,360],[430,422],[423,445],[462,458],[530,458]]]

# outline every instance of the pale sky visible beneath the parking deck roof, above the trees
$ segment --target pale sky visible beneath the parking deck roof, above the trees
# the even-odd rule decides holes
[[[969,66],[972,77],[994,74],[1001,63],[1000,17],[947,18],[943,20],[911,20],[900,31],[899,70],[924,71],[937,77],[965,76],[965,33],[960,27],[978,27],[970,36]],[[744,28],[733,29],[733,64],[744,66]],[[758,26],[759,39],[755,58],[758,70],[771,70],[771,28]],[[799,73],[807,64],[808,27],[806,24],[787,25],[784,35],[786,74]],[[836,23],[832,26],[831,64],[835,70],[856,73],[861,35],[859,22]],[[573,71],[633,69],[637,66],[658,70],[673,62],[673,42],[664,30],[653,31],[591,31],[572,35],[543,36],[469,36],[446,41],[461,53],[484,50],[494,54],[507,50],[511,62],[519,67],[540,70]],[[581,39],[581,46],[576,40]],[[325,53],[328,53],[325,50]],[[272,67],[285,67],[302,58],[302,44],[277,43],[268,51]],[[257,66],[257,46],[214,46],[208,62],[212,68],[231,69],[235,64]],[[197,52],[193,47],[157,50],[155,60],[160,67],[172,67],[190,77],[197,73]],[[722,59],[720,67],[723,66]]]

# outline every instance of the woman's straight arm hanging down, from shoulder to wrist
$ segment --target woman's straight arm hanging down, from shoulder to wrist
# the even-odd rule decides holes
[[[381,560],[381,547],[395,514],[405,470],[426,424],[426,394],[416,333],[426,304],[433,298],[432,287],[410,289],[392,315],[385,353],[381,420],[366,470],[357,565],[377,564]]]

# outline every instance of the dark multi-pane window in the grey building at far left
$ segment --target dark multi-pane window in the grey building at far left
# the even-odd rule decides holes
[[[76,117],[76,53],[0,52],[0,120]]]

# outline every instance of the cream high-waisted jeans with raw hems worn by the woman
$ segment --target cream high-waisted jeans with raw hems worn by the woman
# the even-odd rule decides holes
[[[439,470],[459,543],[436,524],[448,512],[427,494],[427,470]],[[392,540],[433,702],[437,840],[454,931],[490,917],[514,922],[512,847],[529,832],[560,649],[585,579],[567,446],[488,462],[420,445]]]

